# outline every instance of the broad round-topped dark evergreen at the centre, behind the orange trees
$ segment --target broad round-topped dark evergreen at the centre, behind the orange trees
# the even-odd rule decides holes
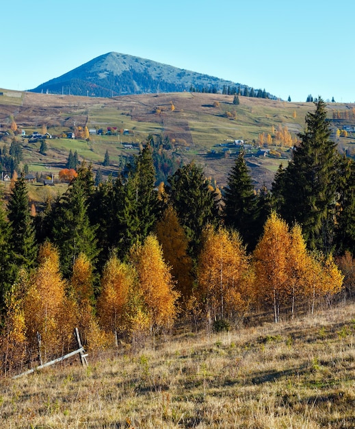
[[[218,206],[203,170],[190,162],[168,178],[170,201],[191,243],[191,256],[196,258],[201,234],[207,223],[218,225]]]

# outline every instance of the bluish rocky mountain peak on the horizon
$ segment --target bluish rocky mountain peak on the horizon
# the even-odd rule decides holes
[[[236,90],[246,85],[125,53],[108,52],[31,91],[112,97],[139,93],[180,93],[192,88],[203,92],[222,92],[224,87]]]

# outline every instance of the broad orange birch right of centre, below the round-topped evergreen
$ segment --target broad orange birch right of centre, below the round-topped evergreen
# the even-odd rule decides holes
[[[203,232],[198,261],[198,295],[211,319],[224,319],[248,308],[250,282],[248,258],[239,234],[211,226]]]

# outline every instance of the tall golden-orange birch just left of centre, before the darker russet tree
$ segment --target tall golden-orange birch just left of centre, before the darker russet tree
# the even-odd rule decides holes
[[[148,235],[143,244],[133,245],[131,262],[137,271],[135,296],[143,303],[150,332],[170,328],[177,315],[179,293],[174,290],[171,268],[154,234]]]

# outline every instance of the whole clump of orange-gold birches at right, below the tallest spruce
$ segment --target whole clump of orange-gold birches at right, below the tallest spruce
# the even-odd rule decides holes
[[[273,304],[276,322],[282,304],[291,304],[293,314],[297,299],[308,298],[313,312],[317,298],[326,297],[330,304],[330,297],[341,291],[343,274],[332,255],[310,254],[300,226],[289,232],[275,212],[267,219],[253,256],[258,297]]]

